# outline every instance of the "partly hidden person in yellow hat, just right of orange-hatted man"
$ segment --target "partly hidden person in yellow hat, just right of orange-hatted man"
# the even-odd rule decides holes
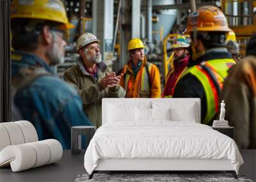
[[[236,62],[240,61],[240,49],[239,44],[236,42],[236,34],[234,31],[228,32],[225,44],[233,59]]]

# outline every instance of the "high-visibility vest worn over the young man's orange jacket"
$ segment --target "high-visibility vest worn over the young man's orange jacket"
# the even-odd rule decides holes
[[[138,94],[141,97],[147,97],[150,98],[150,91],[151,91],[151,82],[150,82],[150,72],[152,69],[152,63],[147,63],[145,66],[143,66],[142,71],[138,72],[137,77],[141,77],[139,87],[138,87]],[[124,75],[124,89],[130,90],[132,87],[131,82],[131,73],[127,73],[127,70],[125,70]],[[135,80],[136,78],[134,78]]]

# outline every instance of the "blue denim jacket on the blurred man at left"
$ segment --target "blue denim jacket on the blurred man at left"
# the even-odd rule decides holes
[[[12,53],[12,77],[28,66],[40,66],[52,73],[51,68],[35,55]],[[14,103],[23,119],[35,126],[39,140],[56,139],[63,149],[70,149],[71,126],[92,125],[84,115],[76,91],[53,74],[42,76],[20,90]]]

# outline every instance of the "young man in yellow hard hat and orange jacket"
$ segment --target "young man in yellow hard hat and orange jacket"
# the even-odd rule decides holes
[[[130,60],[125,64],[120,85],[126,90],[126,98],[159,98],[161,96],[160,73],[155,64],[148,63],[144,45],[139,38],[128,43]]]

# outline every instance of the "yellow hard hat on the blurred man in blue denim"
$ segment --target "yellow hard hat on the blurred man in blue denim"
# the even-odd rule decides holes
[[[67,13],[60,0],[13,0],[11,4],[10,18],[25,18],[49,20],[61,23],[60,29],[74,28],[67,19]]]

